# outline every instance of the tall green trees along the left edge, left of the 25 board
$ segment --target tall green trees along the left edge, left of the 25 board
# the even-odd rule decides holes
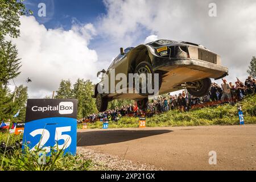
[[[19,117],[23,120],[26,110],[27,87],[15,86],[11,92],[9,82],[20,74],[20,59],[15,45],[6,40],[6,36],[18,38],[19,16],[27,11],[22,2],[0,1],[0,119],[13,118],[20,109]]]

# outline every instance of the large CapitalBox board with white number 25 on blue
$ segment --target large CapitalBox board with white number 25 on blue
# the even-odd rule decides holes
[[[77,100],[30,99],[23,143],[30,150],[42,148],[48,155],[55,148],[76,155],[76,118]]]

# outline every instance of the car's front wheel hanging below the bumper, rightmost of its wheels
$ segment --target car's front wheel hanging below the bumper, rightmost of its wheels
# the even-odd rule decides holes
[[[192,96],[195,96],[195,97],[204,97],[209,93],[210,85],[212,84],[212,81],[210,81],[210,78],[204,78],[203,80],[196,81],[196,84],[199,84],[200,88],[199,89],[187,88],[188,93],[190,93]]]

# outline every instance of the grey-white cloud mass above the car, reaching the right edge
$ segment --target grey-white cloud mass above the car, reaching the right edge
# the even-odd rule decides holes
[[[216,0],[217,17],[207,1],[105,0],[108,13],[98,30],[115,44],[136,46],[149,35],[203,44],[222,57],[228,81],[244,80],[256,52],[256,2]],[[147,33],[144,33],[147,32]]]

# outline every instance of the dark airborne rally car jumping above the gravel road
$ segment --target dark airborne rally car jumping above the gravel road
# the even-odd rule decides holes
[[[97,73],[97,77],[102,74],[101,81],[95,86],[93,96],[96,98],[98,111],[105,111],[108,102],[115,99],[135,100],[139,109],[146,109],[150,94],[142,93],[141,87],[139,92],[133,94],[120,93],[118,90],[99,92],[99,85],[105,81],[109,81],[111,85],[110,82],[113,83],[118,73],[126,75],[127,82],[130,73],[138,73],[138,75],[150,73],[152,77],[158,73],[159,94],[187,88],[188,92],[196,97],[205,96],[209,92],[210,78],[217,80],[228,75],[228,68],[221,66],[219,55],[195,43],[156,40],[125,50],[120,48],[120,52],[107,71],[102,69]],[[110,73],[114,75],[111,76]],[[117,86],[117,80],[119,79],[114,80],[114,86]],[[146,82],[150,81],[152,85],[155,84],[154,79],[146,80]],[[127,89],[130,89],[128,85]]]

